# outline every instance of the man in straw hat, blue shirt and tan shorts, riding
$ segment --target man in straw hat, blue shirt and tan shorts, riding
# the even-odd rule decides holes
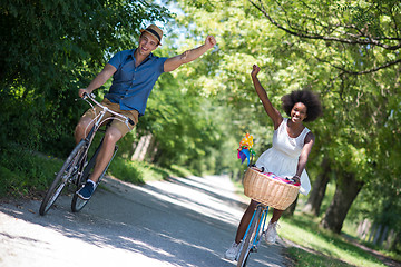
[[[163,31],[157,26],[150,24],[140,32],[138,48],[116,53],[89,86],[79,89],[78,92],[80,97],[85,92],[91,93],[113,76],[113,85],[109,92],[105,95],[102,105],[129,117],[135,125],[138,122],[138,117],[145,113],[150,91],[163,72],[173,71],[183,63],[197,59],[216,44],[215,38],[207,36],[205,43],[200,47],[187,50],[173,58],[159,58],[151,52],[162,46]],[[77,144],[85,138],[86,130],[90,129],[92,118],[94,111],[89,109],[78,122],[75,131]],[[78,191],[80,198],[88,200],[91,197],[99,176],[113,157],[116,142],[130,130],[125,123],[118,120],[113,121],[105,134],[94,172],[85,187]]]

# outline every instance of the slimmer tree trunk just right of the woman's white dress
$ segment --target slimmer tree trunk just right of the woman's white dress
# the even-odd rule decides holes
[[[322,172],[317,176],[316,180],[313,182],[311,196],[307,199],[305,207],[302,209],[303,212],[313,214],[315,216],[319,216],[320,214],[320,208],[322,206],[325,190],[330,181],[331,167],[327,157],[323,159],[321,167],[322,167]]]

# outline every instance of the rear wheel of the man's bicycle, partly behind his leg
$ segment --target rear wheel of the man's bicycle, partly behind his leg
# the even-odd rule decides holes
[[[81,178],[79,179],[79,181],[77,182],[77,191],[78,191],[81,187],[85,186],[86,181],[88,180],[89,175],[92,172],[94,167],[95,167],[95,164],[96,164],[96,158],[97,158],[97,156],[98,156],[98,154],[99,154],[101,144],[102,144],[102,141],[100,142],[99,147],[96,149],[96,152],[94,154],[94,156],[92,156],[91,159],[89,160],[88,165],[85,167],[84,174],[82,174]],[[111,162],[111,160],[114,159],[117,150],[118,150],[118,147],[116,146],[116,147],[115,147],[114,155],[113,155],[110,161],[108,162],[108,165],[106,166],[106,168],[104,169],[104,171],[101,172],[101,175],[100,175],[100,177],[99,177],[99,180],[98,180],[98,182],[97,182],[97,186],[100,184],[102,177],[105,176],[105,174],[106,174],[108,167],[110,166],[110,162]],[[95,190],[96,190],[97,186],[95,187]],[[72,210],[72,212],[78,212],[78,211],[80,211],[80,210],[88,204],[88,201],[89,201],[89,199],[88,199],[88,200],[84,200],[84,199],[81,199],[80,197],[78,197],[77,191],[76,191],[76,194],[74,194],[74,196],[72,196],[72,201],[71,201],[71,210]],[[92,192],[92,196],[94,196],[94,194],[95,194],[95,191]]]

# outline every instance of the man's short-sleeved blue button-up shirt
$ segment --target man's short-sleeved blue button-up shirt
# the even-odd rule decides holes
[[[150,53],[138,67],[135,67],[135,50],[117,52],[109,60],[108,63],[117,71],[113,76],[113,85],[105,98],[119,103],[121,110],[136,109],[139,116],[143,116],[150,91],[164,72],[164,62],[167,58]]]

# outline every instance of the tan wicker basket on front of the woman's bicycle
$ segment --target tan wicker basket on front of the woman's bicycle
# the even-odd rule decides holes
[[[285,210],[295,200],[299,191],[299,186],[285,184],[252,168],[245,172],[245,196],[275,209]]]

